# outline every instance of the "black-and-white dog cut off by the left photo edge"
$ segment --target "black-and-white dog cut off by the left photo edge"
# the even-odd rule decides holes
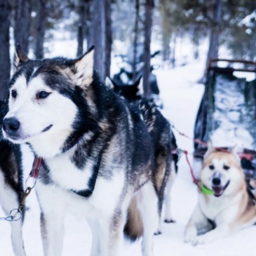
[[[0,105],[0,120],[2,121],[5,112],[4,103]],[[0,206],[8,216],[13,209],[17,209],[23,193],[22,187],[22,166],[21,153],[18,145],[13,145],[6,140],[2,140],[0,134]],[[14,212],[13,212],[14,214]],[[10,222],[11,241],[13,252],[16,256],[25,256],[22,241],[22,222]]]

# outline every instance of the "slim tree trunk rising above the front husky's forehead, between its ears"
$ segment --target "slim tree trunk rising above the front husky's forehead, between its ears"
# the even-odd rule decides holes
[[[43,58],[43,43],[46,32],[46,1],[38,0],[38,8],[36,15],[36,48],[35,55],[37,59]]]

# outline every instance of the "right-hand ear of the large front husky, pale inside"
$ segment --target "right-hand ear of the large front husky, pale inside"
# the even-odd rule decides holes
[[[84,53],[79,59],[76,59],[73,66],[72,79],[76,86],[89,86],[93,81],[93,57],[94,46]]]

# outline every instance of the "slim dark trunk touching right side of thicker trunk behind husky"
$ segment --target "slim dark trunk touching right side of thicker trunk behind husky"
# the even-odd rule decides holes
[[[106,19],[105,76],[110,77],[111,51],[112,51],[112,20],[111,20],[111,1],[110,0],[105,0],[105,19]]]

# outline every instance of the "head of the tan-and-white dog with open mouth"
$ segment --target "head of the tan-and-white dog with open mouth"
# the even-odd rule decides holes
[[[218,151],[211,145],[204,156],[200,180],[204,186],[213,190],[214,196],[232,194],[244,184],[244,174],[235,149]]]

